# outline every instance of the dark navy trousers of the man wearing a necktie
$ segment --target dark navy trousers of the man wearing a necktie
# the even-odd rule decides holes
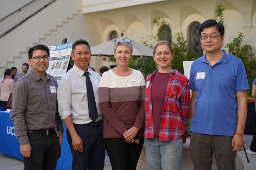
[[[83,141],[83,152],[73,150],[72,138],[67,130],[67,138],[73,157],[73,170],[103,170],[105,161],[103,123],[100,123],[99,126],[74,124],[74,127]]]

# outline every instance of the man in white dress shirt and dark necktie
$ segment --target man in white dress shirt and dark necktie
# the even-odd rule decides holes
[[[62,77],[57,96],[59,114],[67,127],[72,168],[103,169],[105,148],[98,98],[100,75],[88,67],[91,60],[89,43],[75,41],[71,58],[74,66]]]

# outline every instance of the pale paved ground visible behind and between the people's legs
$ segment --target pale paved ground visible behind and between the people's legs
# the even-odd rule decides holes
[[[245,140],[245,148],[249,149],[250,148],[250,142],[252,140],[252,135],[245,135],[244,140]],[[255,170],[256,169],[256,155],[248,155],[250,163],[247,163],[244,150],[239,151],[238,155],[243,160],[244,170]],[[183,169],[186,170],[187,166],[191,167],[191,165],[186,165],[186,163],[183,162],[182,163],[182,170]],[[18,169],[21,170],[23,168],[24,168],[24,166],[23,166],[22,161],[0,154],[0,170],[18,170]],[[104,170],[110,170],[110,169],[111,169],[111,164],[110,164],[109,158],[105,157]],[[142,152],[142,154],[140,156],[140,160],[138,162],[137,170],[144,170],[144,169],[146,169],[145,155],[144,155],[144,152]]]

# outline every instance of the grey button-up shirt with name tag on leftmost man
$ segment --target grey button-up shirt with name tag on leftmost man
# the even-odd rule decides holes
[[[29,143],[28,130],[63,131],[57,108],[57,81],[46,74],[42,80],[31,70],[13,87],[11,119],[21,145]]]

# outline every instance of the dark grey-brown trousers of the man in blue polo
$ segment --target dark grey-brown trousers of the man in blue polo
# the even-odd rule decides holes
[[[195,170],[210,170],[214,154],[219,170],[236,169],[237,152],[232,151],[232,136],[191,132],[190,154]]]

